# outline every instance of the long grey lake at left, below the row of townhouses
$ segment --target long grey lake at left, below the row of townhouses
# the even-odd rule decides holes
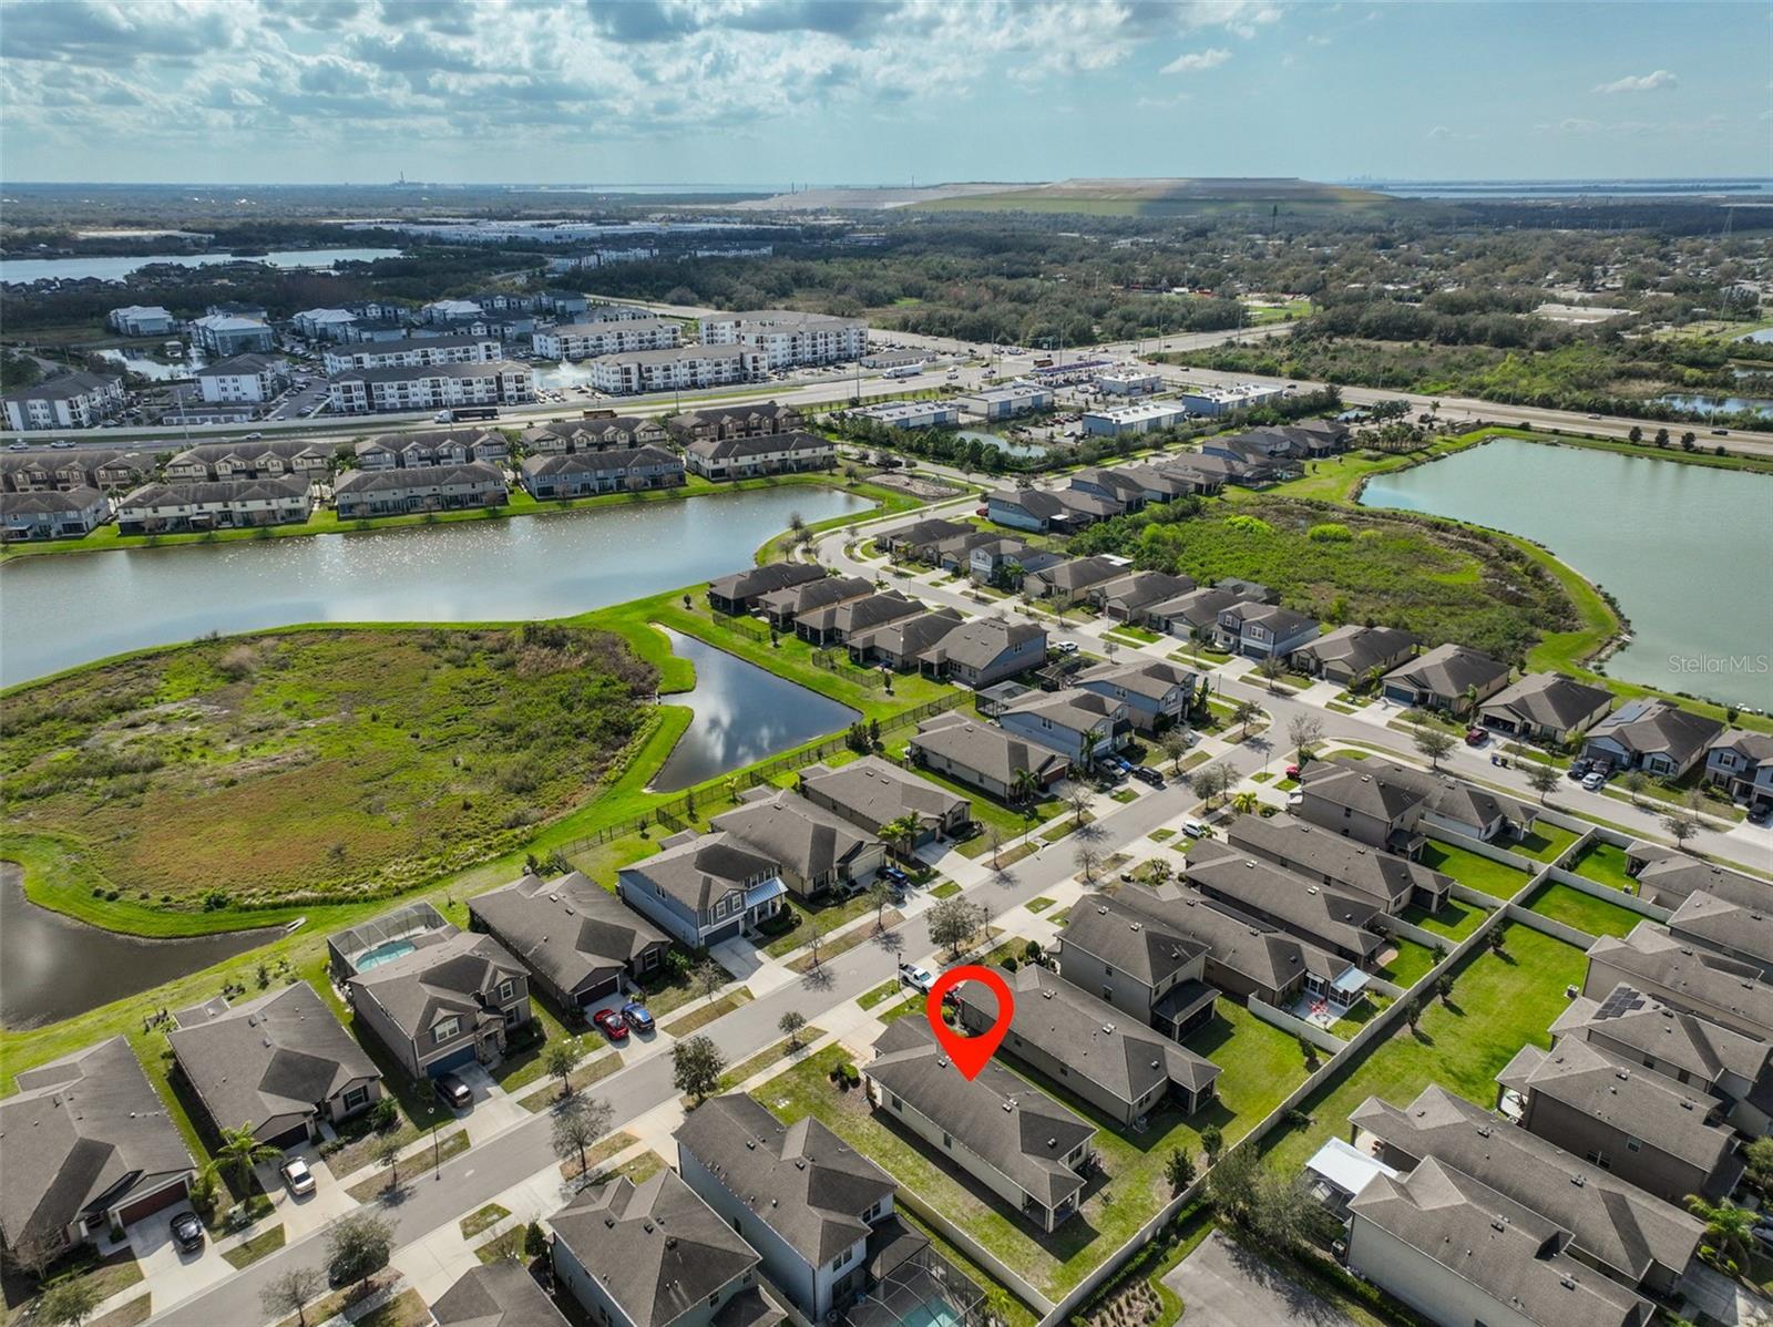
[[[0,567],[0,684],[145,645],[298,622],[553,618],[748,567],[787,528],[867,510],[824,487]]]

